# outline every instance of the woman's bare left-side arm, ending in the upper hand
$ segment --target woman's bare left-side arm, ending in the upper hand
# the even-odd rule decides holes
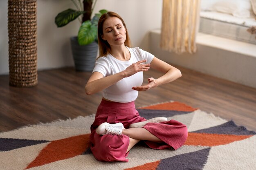
[[[112,84],[115,84],[116,82],[125,77],[134,75],[139,71],[148,71],[150,64],[141,64],[143,62],[146,62],[146,60],[141,60],[136,63],[133,63],[124,71],[107,77],[103,77],[103,75],[99,72],[93,72],[87,84],[85,85],[85,93],[87,95],[97,93],[105,88],[108,88]]]

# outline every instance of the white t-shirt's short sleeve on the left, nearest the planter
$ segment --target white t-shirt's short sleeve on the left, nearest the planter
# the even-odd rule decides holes
[[[103,74],[104,77],[110,75],[110,63],[106,57],[100,57],[98,60],[96,60],[92,73],[96,71]]]

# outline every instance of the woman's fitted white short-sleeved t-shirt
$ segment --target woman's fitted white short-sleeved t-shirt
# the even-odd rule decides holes
[[[106,77],[124,71],[128,66],[140,60],[147,60],[144,64],[148,64],[154,58],[154,55],[139,49],[139,47],[127,47],[127,49],[131,54],[130,60],[121,61],[113,57],[111,54],[108,54],[106,57],[100,57],[96,61],[92,72],[100,72],[104,77]],[[132,90],[132,87],[141,86],[142,82],[143,72],[140,71],[130,77],[121,79],[116,84],[104,89],[103,97],[114,102],[132,102],[138,97],[138,91]]]

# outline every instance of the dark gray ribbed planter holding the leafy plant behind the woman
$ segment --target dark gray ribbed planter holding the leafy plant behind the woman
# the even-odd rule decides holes
[[[98,43],[81,46],[78,44],[77,37],[70,38],[72,55],[77,71],[92,71],[98,53]]]

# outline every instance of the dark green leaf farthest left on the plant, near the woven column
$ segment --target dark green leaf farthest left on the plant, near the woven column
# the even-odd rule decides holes
[[[65,11],[62,11],[61,13],[58,13],[58,15],[55,17],[55,24],[58,27],[65,26],[69,22],[75,20],[79,15],[85,13],[85,11],[76,11],[74,9],[67,9]]]

